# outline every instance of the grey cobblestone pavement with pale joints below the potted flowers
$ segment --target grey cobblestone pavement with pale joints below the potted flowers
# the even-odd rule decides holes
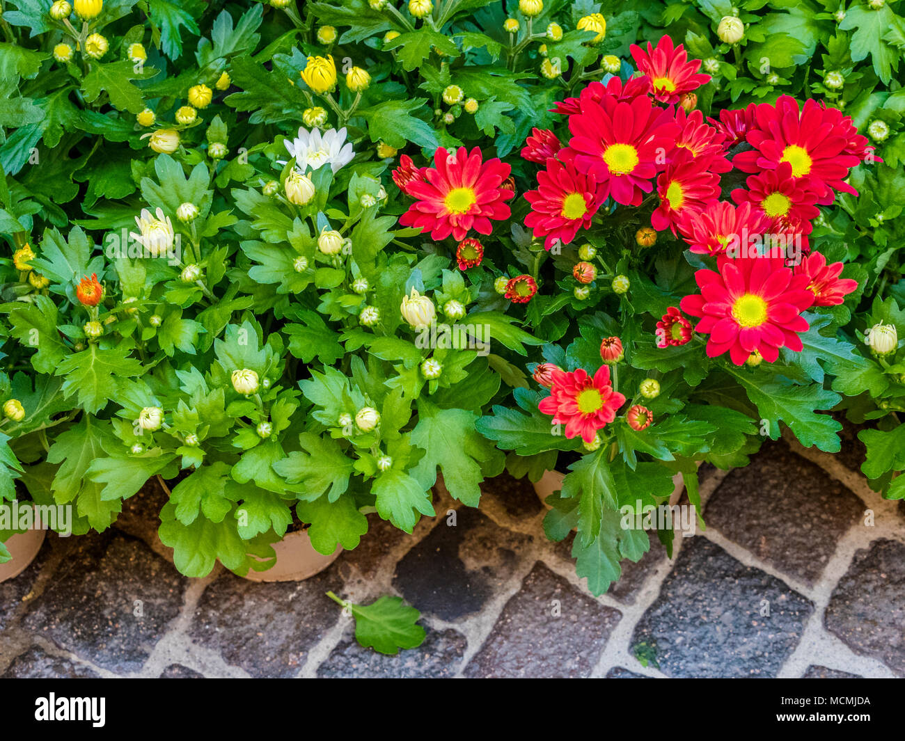
[[[441,495],[413,536],[375,519],[327,571],[282,584],[179,575],[151,524],[164,495],[142,492],[117,528],[48,537],[0,584],[0,676],[905,677],[905,508],[860,456],[856,440],[835,457],[776,442],[748,468],[702,468],[706,531],[672,560],[653,537],[599,598],[506,476],[480,512]],[[424,644],[361,649],[328,590],[402,595]]]

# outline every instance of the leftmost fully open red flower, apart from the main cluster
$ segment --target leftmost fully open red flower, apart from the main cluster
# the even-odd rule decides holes
[[[408,183],[408,194],[417,199],[399,218],[404,226],[430,230],[433,240],[452,234],[462,240],[469,229],[481,234],[492,231],[491,219],[510,217],[505,203],[514,194],[501,187],[510,166],[494,157],[481,161],[481,147],[455,153],[443,147],[433,155],[433,167],[424,168],[424,182]]]

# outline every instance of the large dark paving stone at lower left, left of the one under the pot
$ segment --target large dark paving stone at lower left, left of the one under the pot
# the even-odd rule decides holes
[[[135,538],[110,530],[81,536],[23,625],[104,669],[128,673],[141,668],[179,613],[187,584]]]

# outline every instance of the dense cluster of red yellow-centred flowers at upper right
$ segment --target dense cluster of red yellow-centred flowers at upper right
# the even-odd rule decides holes
[[[840,279],[842,263],[807,255],[807,234],[835,192],[855,194],[844,183],[849,170],[870,157],[867,139],[852,119],[815,100],[799,107],[782,96],[776,104],[751,104],[704,120],[689,100],[710,77],[680,46],[663,36],[656,48],[632,47],[641,76],[592,82],[554,109],[568,117],[564,144],[553,131],[535,128],[521,155],[544,166],[538,187],[525,194],[532,211],[525,223],[550,249],[572,242],[612,199],[638,206],[655,193],[651,215],[691,252],[715,256],[717,270],[700,270],[700,294],[681,309],[700,318],[693,331],[710,335],[707,353],[776,360],[780,347],[801,350],[801,313],[833,306],[857,288]],[[746,142],[748,151],[731,149]],[[750,173],[732,202],[719,200],[719,176],[736,168]],[[659,347],[691,340],[689,319],[672,307],[657,325]]]

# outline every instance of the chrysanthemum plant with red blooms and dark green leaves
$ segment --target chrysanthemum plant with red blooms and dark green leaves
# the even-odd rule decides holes
[[[536,180],[500,240],[509,255],[487,240],[481,268],[506,266],[500,292],[527,303],[548,344],[529,366],[536,385],[479,429],[511,451],[513,473],[567,474],[546,527],[555,539],[577,530],[595,593],[647,550],[641,515],[670,497],[676,472],[697,506],[700,461],[744,465],[784,428],[838,451],[826,411],[898,372],[837,331],[864,271],[811,237],[820,206],[856,195],[850,169],[875,161],[851,119],[788,97],[705,119],[691,96],[710,78],[681,45],[663,37],[632,55],[635,75],[590,83],[557,105],[559,126],[527,139]],[[405,185],[421,198],[414,218],[430,203],[418,182]],[[669,544],[672,531],[658,536]]]

